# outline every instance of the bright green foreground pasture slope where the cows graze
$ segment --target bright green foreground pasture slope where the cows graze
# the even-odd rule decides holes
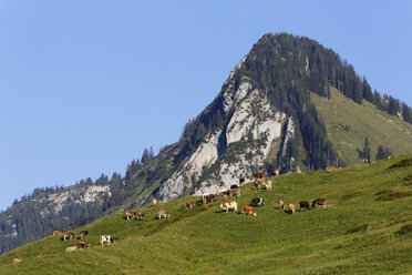
[[[399,164],[396,167],[390,166]],[[236,201],[264,197],[257,216],[219,203],[186,210],[179,198],[144,208],[146,221],[115,214],[84,228],[92,247],[48,237],[0,256],[0,274],[409,274],[412,271],[412,155],[334,172],[281,175],[271,191],[243,186]],[[279,210],[284,198],[327,197],[331,207]],[[169,220],[155,220],[158,210]],[[371,228],[368,228],[371,226]],[[99,236],[114,236],[101,247]],[[146,236],[144,236],[146,234]],[[37,255],[48,255],[38,258]],[[14,265],[13,258],[23,258]]]

